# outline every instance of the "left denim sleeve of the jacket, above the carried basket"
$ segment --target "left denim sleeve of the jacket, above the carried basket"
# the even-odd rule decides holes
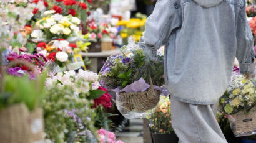
[[[147,57],[156,57],[157,49],[165,45],[172,30],[180,26],[179,8],[180,3],[175,3],[175,0],[157,1],[153,13],[145,22],[145,32],[139,42],[139,48]]]

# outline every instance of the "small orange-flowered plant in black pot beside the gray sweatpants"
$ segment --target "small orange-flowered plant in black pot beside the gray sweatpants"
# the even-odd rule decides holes
[[[147,117],[150,120],[149,129],[151,132],[152,143],[178,142],[172,128],[170,117],[170,97],[160,96],[160,101],[156,112]]]

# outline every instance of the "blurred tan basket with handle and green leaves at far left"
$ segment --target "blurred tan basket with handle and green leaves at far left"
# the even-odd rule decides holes
[[[9,73],[12,67],[26,66],[33,72],[34,80],[28,75],[15,76]],[[4,142],[36,142],[43,140],[43,111],[41,99],[44,98],[46,74],[37,74],[36,67],[24,59],[9,62],[1,72],[0,94],[0,138]],[[21,70],[22,71],[22,70]]]

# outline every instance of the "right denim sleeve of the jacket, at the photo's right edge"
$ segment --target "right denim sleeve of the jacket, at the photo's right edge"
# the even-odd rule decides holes
[[[255,69],[254,37],[246,18],[244,6],[239,12],[237,21],[237,51],[236,57],[239,60],[240,73],[253,73]]]

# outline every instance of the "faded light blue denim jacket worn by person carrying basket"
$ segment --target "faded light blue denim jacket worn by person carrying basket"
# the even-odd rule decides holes
[[[139,47],[154,58],[162,45],[165,85],[185,103],[216,103],[229,85],[235,57],[240,73],[255,69],[245,0],[158,0]]]

